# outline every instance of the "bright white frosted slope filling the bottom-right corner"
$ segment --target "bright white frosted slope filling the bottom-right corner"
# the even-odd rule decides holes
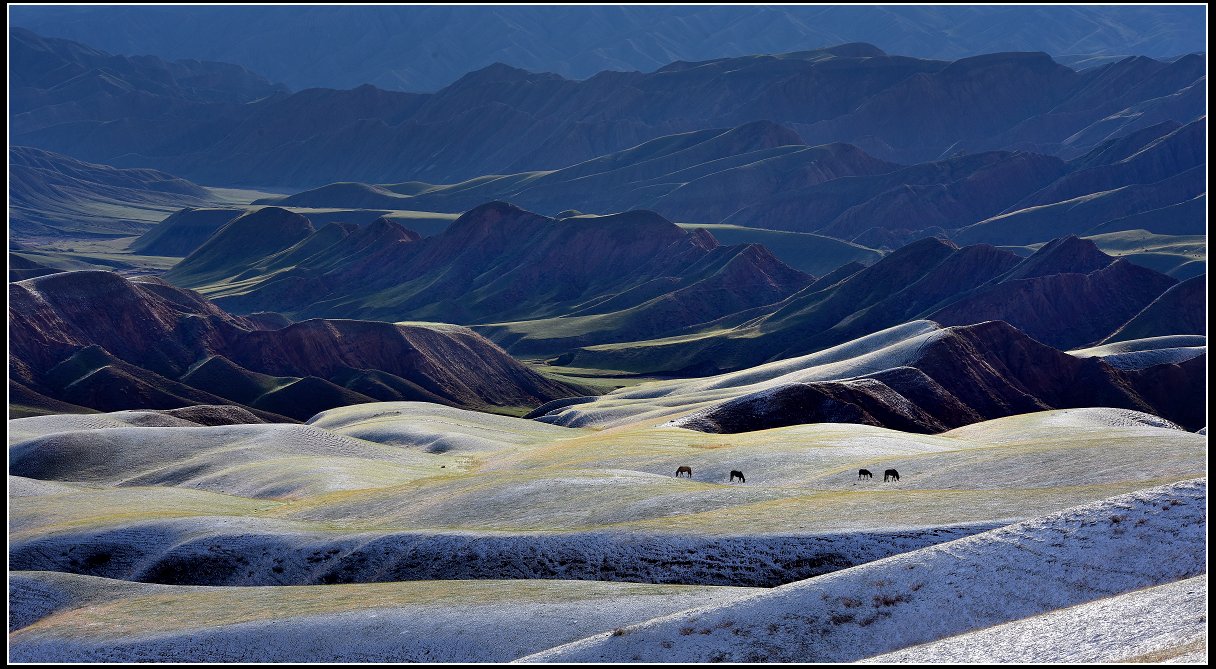
[[[862,662],[1161,662],[1206,651],[1206,600],[1207,577],[1195,577]]]

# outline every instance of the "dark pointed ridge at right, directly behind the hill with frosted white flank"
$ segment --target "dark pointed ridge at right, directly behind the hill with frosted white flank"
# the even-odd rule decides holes
[[[586,345],[562,364],[635,372],[738,370],[846,343],[917,319],[1006,321],[1058,348],[1097,343],[1176,280],[1065,237],[1020,258],[989,244],[913,242],[868,268],[845,266],[783,302],[668,338]],[[1194,304],[1189,303],[1189,309]],[[1188,315],[1187,320],[1193,320]],[[492,338],[503,333],[486,330]],[[1183,332],[1171,332],[1183,333]],[[535,334],[542,337],[542,331]]]

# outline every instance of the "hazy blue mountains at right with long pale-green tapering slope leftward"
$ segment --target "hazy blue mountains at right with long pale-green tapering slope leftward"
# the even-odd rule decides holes
[[[900,165],[849,144],[806,146],[789,128],[754,122],[669,135],[552,172],[452,185],[330,184],[259,201],[286,207],[465,212],[491,199],[537,212],[653,209],[679,221],[812,232],[897,247],[940,235],[1031,244],[1060,234],[1161,229],[1201,235],[1188,207],[1206,191],[1206,119],[1162,122],[1071,161],[989,151]],[[1166,215],[1172,212],[1173,215]]]

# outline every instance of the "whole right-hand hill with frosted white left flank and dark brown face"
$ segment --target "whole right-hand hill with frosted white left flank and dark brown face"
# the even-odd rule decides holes
[[[1206,347],[1178,342],[1145,341],[1136,355],[1102,348],[1068,355],[1000,321],[940,327],[921,320],[737,372],[563,399],[529,416],[601,428],[666,422],[714,433],[809,422],[939,433],[1047,409],[1115,406],[1197,429],[1204,425]]]

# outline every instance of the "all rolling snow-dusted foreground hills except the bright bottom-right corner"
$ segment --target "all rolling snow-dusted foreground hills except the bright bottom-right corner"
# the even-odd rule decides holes
[[[1203,567],[1205,435],[1136,411],[936,435],[176,420],[10,422],[13,658],[861,659]]]

